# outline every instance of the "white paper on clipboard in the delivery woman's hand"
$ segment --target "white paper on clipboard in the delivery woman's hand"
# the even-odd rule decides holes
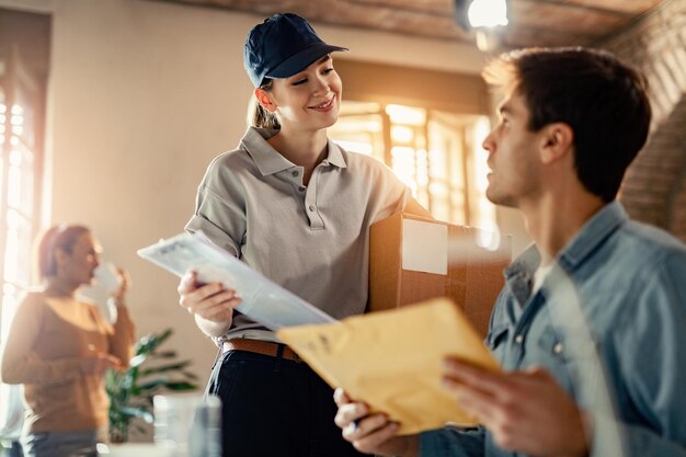
[[[199,282],[221,282],[242,299],[236,308],[238,311],[271,330],[335,322],[331,316],[214,244],[202,232],[184,232],[160,240],[138,250],[138,255],[180,277],[193,269]]]

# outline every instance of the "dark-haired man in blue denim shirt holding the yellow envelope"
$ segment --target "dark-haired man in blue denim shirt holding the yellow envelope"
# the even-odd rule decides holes
[[[487,195],[522,210],[535,244],[491,317],[503,373],[445,361],[483,426],[397,436],[341,390],[336,424],[387,456],[686,457],[686,248],[615,201],[648,136],[643,78],[582,48],[513,52],[484,77],[505,89]]]

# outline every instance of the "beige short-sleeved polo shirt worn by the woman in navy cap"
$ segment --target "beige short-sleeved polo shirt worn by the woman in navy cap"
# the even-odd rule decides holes
[[[197,193],[190,232],[203,231],[255,271],[334,318],[365,311],[369,226],[404,209],[410,190],[378,160],[329,140],[329,156],[302,185],[295,165],[251,127],[217,157]],[[242,315],[226,338],[276,341]]]

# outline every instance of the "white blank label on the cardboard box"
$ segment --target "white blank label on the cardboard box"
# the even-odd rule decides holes
[[[404,219],[402,270],[448,274],[448,226]]]

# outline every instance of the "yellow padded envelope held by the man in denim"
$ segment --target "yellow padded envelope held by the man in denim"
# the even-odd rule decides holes
[[[335,323],[284,328],[277,336],[332,387],[400,423],[400,434],[475,425],[441,385],[447,355],[488,369],[498,362],[461,309],[438,298]]]

